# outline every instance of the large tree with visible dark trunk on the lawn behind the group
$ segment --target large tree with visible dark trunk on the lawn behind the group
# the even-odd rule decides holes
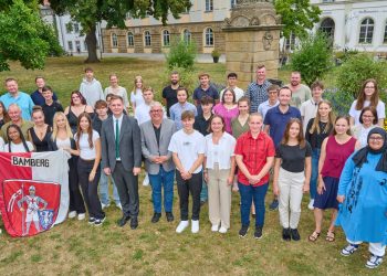
[[[102,20],[107,22],[107,28],[125,29],[128,14],[132,18],[153,15],[165,24],[169,12],[174,18],[179,18],[181,12],[191,7],[190,0],[51,0],[50,4],[57,14],[69,13],[74,21],[81,23],[86,34],[86,62],[90,63],[98,62],[95,31],[96,24]]]

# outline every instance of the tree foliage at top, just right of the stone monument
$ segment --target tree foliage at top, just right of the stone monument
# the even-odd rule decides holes
[[[283,36],[287,39],[291,33],[296,38],[305,36],[306,30],[311,30],[320,20],[320,8],[311,6],[308,0],[275,0],[274,7],[282,17]]]

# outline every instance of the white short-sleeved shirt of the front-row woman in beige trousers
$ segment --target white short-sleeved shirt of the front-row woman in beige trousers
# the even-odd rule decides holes
[[[212,142],[212,134],[206,136],[206,167],[213,169],[215,163],[219,164],[220,170],[228,170],[231,168],[230,157],[234,156],[237,140],[228,132],[223,132],[219,139],[219,144]]]

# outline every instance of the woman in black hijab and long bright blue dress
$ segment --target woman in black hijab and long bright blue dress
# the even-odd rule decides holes
[[[383,128],[372,129],[367,146],[346,161],[337,201],[342,206],[336,224],[348,242],[342,255],[351,256],[359,244],[368,242],[366,267],[378,267],[387,244],[387,134]]]

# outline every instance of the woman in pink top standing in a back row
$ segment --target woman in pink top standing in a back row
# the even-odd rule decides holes
[[[231,120],[239,115],[236,93],[232,88],[226,88],[221,102],[212,108],[212,113],[224,119],[226,131],[232,135]]]

